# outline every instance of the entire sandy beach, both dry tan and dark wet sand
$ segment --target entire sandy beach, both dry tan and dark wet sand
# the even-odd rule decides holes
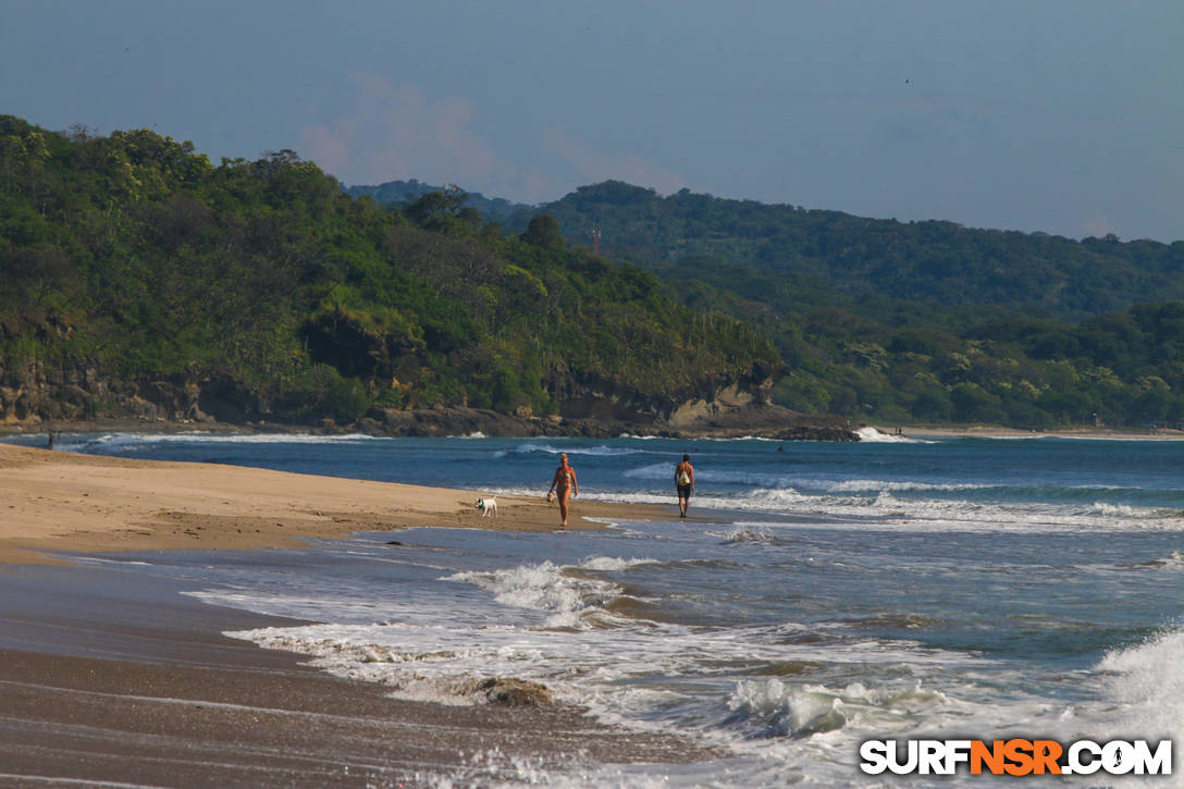
[[[221,635],[290,620],[54,553],[217,552],[404,526],[558,527],[541,498],[500,496],[500,517],[482,519],[478,495],[0,444],[0,784],[399,787],[506,777],[513,759],[570,769],[706,758],[561,706],[393,700]],[[643,512],[675,508],[585,501],[573,527],[599,527],[583,515]]]

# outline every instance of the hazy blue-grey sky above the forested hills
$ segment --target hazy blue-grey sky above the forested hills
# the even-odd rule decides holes
[[[1171,242],[1182,41],[1179,0],[0,0],[0,114],[347,185]]]

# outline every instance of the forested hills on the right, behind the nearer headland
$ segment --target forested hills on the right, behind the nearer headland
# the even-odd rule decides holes
[[[391,195],[391,193],[387,193]],[[774,338],[774,399],[906,422],[1184,421],[1184,242],[1075,242],[609,181],[545,211]],[[1150,299],[1158,303],[1143,303]]]

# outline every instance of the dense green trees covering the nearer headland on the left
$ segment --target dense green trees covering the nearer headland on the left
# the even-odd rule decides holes
[[[0,272],[8,386],[83,368],[292,418],[551,413],[591,390],[661,409],[778,363],[735,320],[687,331],[654,275],[566,249],[553,220],[520,238],[439,192],[388,211],[291,152],[215,166],[147,130],[0,116]]]

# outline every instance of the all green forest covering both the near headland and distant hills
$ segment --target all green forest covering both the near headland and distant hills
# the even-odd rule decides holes
[[[96,376],[296,419],[661,413],[779,372],[783,405],[889,423],[1184,421],[1180,242],[618,182],[480,203],[503,230],[457,190],[384,186],[353,191],[397,209],[291,152],[215,166],[146,130],[0,116],[0,399],[56,370],[90,415],[111,405]],[[631,262],[592,255],[592,227]]]

